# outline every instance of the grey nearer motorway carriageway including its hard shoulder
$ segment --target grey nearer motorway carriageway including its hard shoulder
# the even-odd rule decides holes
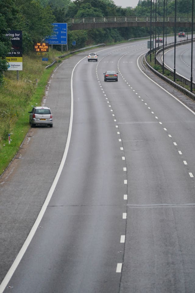
[[[55,70],[54,127],[31,129],[1,180],[4,264],[48,197],[0,292],[194,292],[195,113],[144,74],[147,41],[97,51]]]

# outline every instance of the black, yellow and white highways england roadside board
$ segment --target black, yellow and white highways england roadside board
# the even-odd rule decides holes
[[[11,30],[5,36],[12,43],[12,49],[6,56],[8,70],[22,70],[22,31]]]

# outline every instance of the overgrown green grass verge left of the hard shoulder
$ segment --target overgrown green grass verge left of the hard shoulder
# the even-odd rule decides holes
[[[59,55],[56,50],[48,52],[47,64],[51,64]],[[30,128],[28,111],[31,105],[41,105],[47,81],[57,65],[55,63],[45,69],[47,64],[42,57],[36,53],[23,56],[19,80],[16,80],[16,71],[7,71],[0,86],[0,175],[18,152]],[[9,133],[12,139],[10,144]]]

